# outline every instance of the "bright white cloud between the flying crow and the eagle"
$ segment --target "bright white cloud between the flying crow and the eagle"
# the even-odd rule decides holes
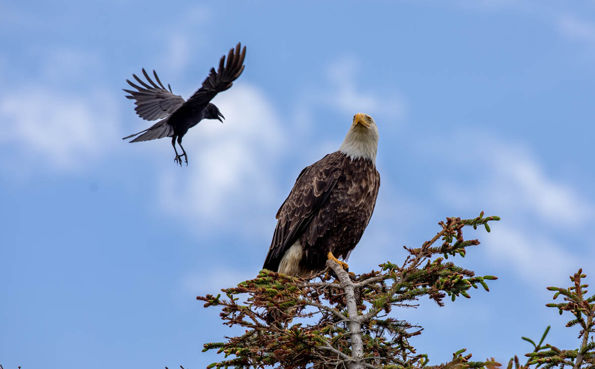
[[[242,221],[248,228],[257,214],[268,214],[259,209],[270,205],[271,193],[277,190],[275,165],[286,133],[273,106],[254,86],[236,85],[214,102],[225,123],[205,120],[184,136],[189,166],[182,168],[183,176],[173,165],[170,148],[172,163],[159,174],[161,204],[168,211],[183,212],[191,224],[250,214]]]

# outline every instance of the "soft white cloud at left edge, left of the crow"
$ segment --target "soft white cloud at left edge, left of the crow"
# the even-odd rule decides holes
[[[115,102],[101,93],[65,95],[30,85],[0,96],[0,142],[15,153],[4,164],[80,167],[108,152],[110,141],[117,142],[117,121]]]

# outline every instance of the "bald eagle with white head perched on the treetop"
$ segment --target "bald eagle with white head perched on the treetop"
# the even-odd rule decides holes
[[[263,268],[308,277],[327,259],[347,260],[368,226],[380,187],[376,170],[378,128],[353,115],[339,151],[302,170],[279,208]]]

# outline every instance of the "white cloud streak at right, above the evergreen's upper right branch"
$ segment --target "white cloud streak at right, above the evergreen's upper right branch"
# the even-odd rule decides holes
[[[481,134],[459,135],[453,140],[466,142],[466,152],[486,154],[478,158],[481,165],[475,168],[483,170],[476,174],[476,183],[465,186],[440,184],[440,188],[449,189],[448,192],[440,190],[441,196],[447,201],[465,206],[481,204],[506,208],[512,214],[537,216],[556,228],[584,225],[587,215],[593,212],[593,204],[568,183],[547,176],[540,163],[524,146],[504,143]],[[468,155],[464,153],[453,155],[469,162],[466,160]],[[470,190],[469,185],[475,186],[474,190]]]

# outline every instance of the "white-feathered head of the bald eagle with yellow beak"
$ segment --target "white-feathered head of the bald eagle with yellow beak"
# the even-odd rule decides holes
[[[378,151],[378,127],[374,119],[362,112],[353,115],[351,127],[339,151],[352,160],[364,158],[375,165]]]

